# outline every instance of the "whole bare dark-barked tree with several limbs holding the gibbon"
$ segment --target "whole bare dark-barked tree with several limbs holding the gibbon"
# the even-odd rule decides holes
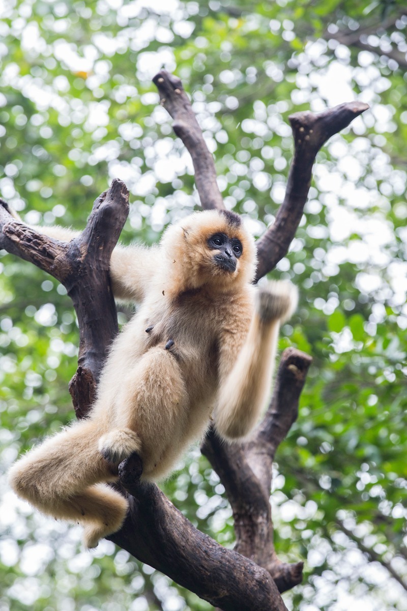
[[[203,208],[223,208],[214,161],[181,81],[161,71],[154,82],[174,119],[174,131],[189,150]],[[290,117],[295,155],[287,193],[275,224],[258,242],[258,278],[286,254],[308,196],[312,164],[322,144],[367,108],[341,104],[319,115]],[[107,350],[117,333],[109,281],[109,260],[128,214],[128,191],[120,180],[96,199],[85,230],[69,244],[52,240],[13,219],[0,201],[0,248],[34,263],[56,277],[73,300],[80,330],[79,361],[70,392],[78,417],[93,399]],[[302,562],[281,562],[273,545],[269,502],[272,464],[278,445],[297,418],[298,400],[311,357],[293,348],[284,352],[275,390],[264,420],[244,443],[220,443],[213,430],[203,444],[231,503],[235,551],[203,535],[152,484],[140,483],[137,456],[120,466],[130,511],[120,532],[110,538],[142,562],[167,574],[224,611],[284,610],[282,592],[301,581]]]

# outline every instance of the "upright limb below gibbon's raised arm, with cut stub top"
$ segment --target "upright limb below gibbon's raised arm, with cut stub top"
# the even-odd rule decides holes
[[[311,357],[288,348],[281,357],[270,407],[247,442],[226,445],[212,430],[201,451],[225,486],[236,532],[236,551],[263,566],[278,590],[301,582],[303,563],[281,562],[273,543],[270,508],[273,458],[298,415],[298,400]]]

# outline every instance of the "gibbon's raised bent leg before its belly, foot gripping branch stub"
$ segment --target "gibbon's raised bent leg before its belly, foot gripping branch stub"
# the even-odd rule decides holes
[[[107,460],[120,462],[140,452],[142,477],[162,477],[179,455],[187,404],[174,354],[160,346],[149,349],[123,380],[115,400],[117,428],[99,440],[101,453]],[[134,445],[137,440],[139,449]]]

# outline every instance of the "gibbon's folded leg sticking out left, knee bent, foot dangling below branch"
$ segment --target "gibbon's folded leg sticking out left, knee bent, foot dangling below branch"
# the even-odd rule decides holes
[[[100,427],[83,420],[32,449],[9,472],[18,496],[54,518],[85,525],[84,544],[116,532],[126,517],[127,500],[102,481],[117,472],[98,451]]]

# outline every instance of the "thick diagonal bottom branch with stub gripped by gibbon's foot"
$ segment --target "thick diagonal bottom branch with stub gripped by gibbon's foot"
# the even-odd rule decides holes
[[[265,569],[195,529],[156,485],[140,483],[137,455],[125,462],[130,511],[112,541],[223,611],[286,610]]]

